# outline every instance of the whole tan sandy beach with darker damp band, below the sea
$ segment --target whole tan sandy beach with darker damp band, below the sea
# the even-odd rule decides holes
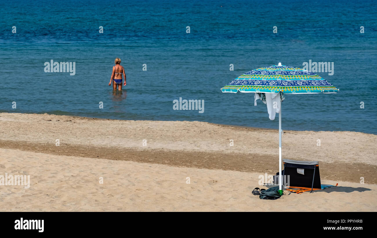
[[[278,139],[207,122],[0,113],[0,175],[31,181],[0,186],[1,211],[377,211],[377,135],[284,130],[283,158],[317,160],[322,184],[339,185],[260,200],[251,191],[277,172]]]

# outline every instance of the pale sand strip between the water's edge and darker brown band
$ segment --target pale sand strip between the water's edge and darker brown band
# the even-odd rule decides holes
[[[0,113],[0,140],[139,150],[279,154],[277,130],[198,121],[125,121],[51,114]],[[377,135],[350,131],[284,131],[282,157],[377,165]]]

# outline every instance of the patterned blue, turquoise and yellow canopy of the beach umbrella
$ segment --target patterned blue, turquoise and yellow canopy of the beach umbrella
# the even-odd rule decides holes
[[[223,93],[336,93],[338,90],[313,72],[280,63],[251,70],[221,88]]]

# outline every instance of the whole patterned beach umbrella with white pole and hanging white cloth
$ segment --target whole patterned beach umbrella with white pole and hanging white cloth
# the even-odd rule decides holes
[[[279,63],[251,70],[221,88],[223,93],[254,93],[254,105],[261,99],[267,104],[270,119],[279,113],[279,194],[282,190],[281,101],[284,94],[337,93],[339,89],[313,72]]]

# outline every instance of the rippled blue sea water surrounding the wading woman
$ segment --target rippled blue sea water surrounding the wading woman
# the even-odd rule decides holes
[[[277,128],[253,94],[220,88],[258,67],[312,60],[334,62],[333,75],[318,74],[340,92],[287,95],[283,129],[377,134],[373,1],[1,1],[0,9],[0,112]],[[114,94],[115,57],[127,86]],[[51,59],[75,62],[76,74],[45,73]],[[173,110],[179,98],[204,100],[204,113]]]

